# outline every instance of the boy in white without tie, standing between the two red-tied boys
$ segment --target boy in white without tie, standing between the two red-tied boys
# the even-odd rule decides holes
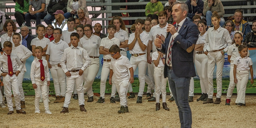
[[[26,60],[32,55],[32,52],[25,47],[24,45],[20,44],[21,36],[19,33],[14,33],[12,35],[12,42],[14,43],[14,47],[12,48],[12,53],[16,54],[20,61],[23,63],[23,69],[20,71],[18,75],[18,83],[19,83],[19,91],[20,91],[20,107],[22,109],[26,108],[25,106],[25,96],[22,88],[22,82],[24,78],[24,74],[27,71],[26,69]],[[16,106],[13,106],[16,108]]]

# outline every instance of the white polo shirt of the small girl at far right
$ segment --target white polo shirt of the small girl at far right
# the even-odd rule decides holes
[[[248,71],[252,65],[252,59],[248,56],[242,58],[241,56],[236,57],[234,60],[234,64],[236,65],[236,70],[238,71]]]

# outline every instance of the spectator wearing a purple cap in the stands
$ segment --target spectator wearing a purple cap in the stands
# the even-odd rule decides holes
[[[68,30],[68,24],[64,17],[64,12],[62,10],[57,10],[53,13],[55,20],[52,23],[54,28],[60,28],[62,31]]]

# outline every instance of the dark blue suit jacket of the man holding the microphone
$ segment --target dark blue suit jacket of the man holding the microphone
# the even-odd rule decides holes
[[[162,44],[161,52],[168,54],[168,46],[172,34],[165,38],[164,44]],[[196,71],[194,67],[194,48],[198,38],[198,29],[196,24],[185,20],[183,25],[179,30],[179,35],[174,39],[174,44],[172,46],[172,69],[176,76],[178,77],[192,77],[196,76]],[[167,58],[166,58],[167,59]],[[164,77],[167,77],[168,66],[164,66]]]

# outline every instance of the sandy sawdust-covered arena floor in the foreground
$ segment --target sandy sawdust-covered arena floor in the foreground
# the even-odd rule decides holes
[[[0,127],[10,128],[179,128],[180,121],[178,108],[175,102],[166,103],[169,105],[170,111],[162,108],[155,110],[156,102],[147,102],[146,95],[143,95],[143,103],[137,104],[137,95],[134,99],[128,99],[129,113],[118,114],[120,109],[119,102],[110,103],[110,95],[106,96],[106,103],[96,103],[97,96],[94,101],[87,103],[85,96],[85,109],[87,112],[80,112],[78,100],[72,98],[69,113],[60,114],[63,103],[53,103],[55,97],[50,97],[51,103],[49,108],[52,115],[44,114],[44,105],[40,103],[41,114],[35,114],[34,96],[26,96],[27,114],[7,115],[8,108],[0,108]],[[235,106],[236,96],[231,99],[231,106],[225,106],[226,95],[221,98],[219,105],[202,104],[202,101],[196,102],[199,95],[194,97],[194,102],[189,105],[192,110],[192,127],[194,128],[255,128],[256,127],[256,96],[246,96],[246,106]],[[169,99],[170,96],[167,96]],[[215,98],[213,98],[215,100]],[[162,100],[160,99],[160,103]]]

